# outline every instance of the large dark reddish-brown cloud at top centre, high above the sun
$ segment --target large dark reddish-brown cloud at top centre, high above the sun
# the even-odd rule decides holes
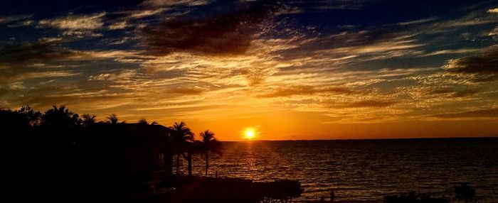
[[[245,53],[253,35],[263,31],[263,22],[276,10],[275,4],[240,3],[231,11],[210,16],[178,16],[146,26],[143,43],[154,55],[173,52],[206,55]],[[248,9],[245,9],[246,6]]]

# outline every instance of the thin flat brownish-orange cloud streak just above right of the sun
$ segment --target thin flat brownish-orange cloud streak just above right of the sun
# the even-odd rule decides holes
[[[311,95],[311,94],[351,94],[352,90],[341,87],[312,87],[307,85],[294,86],[277,89],[275,92],[260,94],[258,97],[289,97],[293,95]]]

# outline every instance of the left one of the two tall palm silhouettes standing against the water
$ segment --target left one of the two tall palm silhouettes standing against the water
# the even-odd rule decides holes
[[[180,124],[175,122],[174,125],[169,128],[173,131],[171,133],[171,141],[176,148],[176,175],[180,175],[180,155],[186,145],[194,141],[194,133],[186,126],[184,121],[181,121]],[[189,161],[189,169],[191,169],[191,167],[191,161]],[[191,173],[191,171],[189,173]]]

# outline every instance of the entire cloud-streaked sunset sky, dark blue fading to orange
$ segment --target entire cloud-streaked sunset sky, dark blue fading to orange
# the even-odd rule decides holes
[[[1,1],[0,106],[238,141],[498,136],[498,1]]]

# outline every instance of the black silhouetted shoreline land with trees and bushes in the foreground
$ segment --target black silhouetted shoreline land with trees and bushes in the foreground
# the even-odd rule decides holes
[[[294,180],[179,176],[173,158],[191,151],[174,129],[85,121],[55,106],[44,114],[0,109],[0,202],[291,202],[303,192]],[[379,202],[477,200],[463,184],[451,197],[409,192]]]

